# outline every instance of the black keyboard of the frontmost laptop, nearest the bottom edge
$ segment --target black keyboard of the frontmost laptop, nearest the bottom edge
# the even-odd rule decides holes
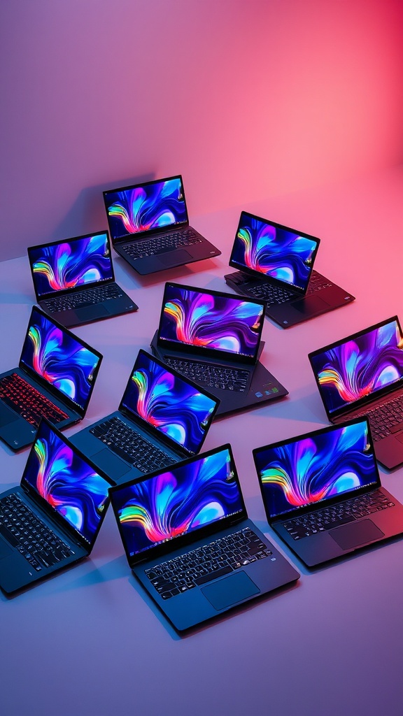
[[[249,527],[157,564],[145,573],[162,599],[181,594],[272,554]]]

